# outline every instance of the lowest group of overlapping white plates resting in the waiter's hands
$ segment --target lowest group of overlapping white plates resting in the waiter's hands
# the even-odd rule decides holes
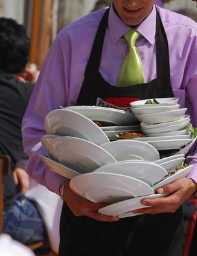
[[[120,218],[134,216],[134,209],[145,207],[141,204],[142,199],[167,196],[156,194],[156,189],[191,172],[192,165],[170,175],[170,170],[183,163],[184,159],[178,155],[174,159],[163,159],[162,164],[156,163],[159,160],[155,163],[118,161],[73,178],[70,186],[76,194],[91,202],[110,204],[99,209],[99,213]]]

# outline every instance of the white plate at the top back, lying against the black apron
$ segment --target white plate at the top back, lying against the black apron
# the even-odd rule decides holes
[[[116,108],[104,108],[98,106],[70,106],[65,110],[73,110],[82,115],[85,115],[92,121],[110,122],[113,125],[131,125],[137,124],[138,121],[133,115],[124,110]]]

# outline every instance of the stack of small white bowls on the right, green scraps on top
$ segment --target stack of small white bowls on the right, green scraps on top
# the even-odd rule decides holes
[[[141,121],[141,132],[146,136],[137,140],[146,141],[157,150],[176,150],[189,144],[192,139],[184,129],[191,125],[189,115],[185,115],[187,108],[180,108],[178,98],[156,100],[159,104],[145,104],[147,100],[131,103],[132,112]]]

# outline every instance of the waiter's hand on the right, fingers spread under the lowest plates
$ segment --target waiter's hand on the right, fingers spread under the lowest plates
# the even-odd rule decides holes
[[[197,184],[195,181],[189,178],[181,178],[157,189],[159,194],[169,194],[169,196],[142,200],[141,204],[151,207],[137,209],[133,213],[174,213],[183,202],[196,192],[196,189]]]

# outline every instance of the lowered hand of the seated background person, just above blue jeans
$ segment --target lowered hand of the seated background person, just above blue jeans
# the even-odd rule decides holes
[[[29,175],[24,169],[16,168],[13,172],[14,181],[16,185],[21,186],[21,194],[25,194],[27,189],[29,189]]]

